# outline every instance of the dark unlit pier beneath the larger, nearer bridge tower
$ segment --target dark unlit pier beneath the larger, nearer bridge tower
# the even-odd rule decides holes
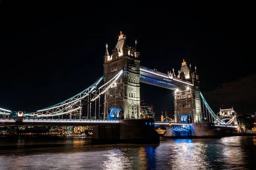
[[[119,125],[93,126],[92,144],[158,144],[154,120],[120,120]]]

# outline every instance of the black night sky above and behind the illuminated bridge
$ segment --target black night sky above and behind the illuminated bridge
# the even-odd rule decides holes
[[[137,39],[145,67],[177,74],[183,59],[196,65],[215,113],[221,105],[256,112],[255,55],[240,40],[250,11],[239,4],[90,3],[1,1],[1,108],[35,111],[78,94],[103,75],[105,44],[112,51],[122,31],[129,46]],[[141,99],[157,115],[174,112],[172,91],[141,84]]]

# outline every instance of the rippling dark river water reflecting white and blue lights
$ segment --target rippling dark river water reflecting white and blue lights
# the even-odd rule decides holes
[[[0,137],[0,170],[255,170],[256,136],[91,145],[89,137]]]

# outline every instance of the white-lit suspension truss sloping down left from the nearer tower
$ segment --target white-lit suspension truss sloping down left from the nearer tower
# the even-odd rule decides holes
[[[85,89],[81,93],[76,96],[71,97],[70,99],[65,100],[64,102],[60,102],[56,105],[52,105],[48,108],[44,108],[38,110],[36,112],[30,112],[23,114],[23,117],[48,117],[48,116],[58,116],[67,113],[72,113],[74,111],[80,111],[84,105],[91,103],[99,98],[100,95],[104,94],[111,86],[116,82],[116,80],[121,76],[123,71],[121,70],[115,77],[109,80],[107,83],[98,88],[99,83],[103,80],[104,76],[102,76],[99,80],[97,80],[93,85],[89,88]]]

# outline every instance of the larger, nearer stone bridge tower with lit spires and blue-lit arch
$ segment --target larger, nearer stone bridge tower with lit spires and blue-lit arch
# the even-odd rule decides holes
[[[104,119],[140,119],[140,53],[126,44],[120,32],[112,54],[104,56],[104,82],[123,69],[123,74],[104,94]]]

